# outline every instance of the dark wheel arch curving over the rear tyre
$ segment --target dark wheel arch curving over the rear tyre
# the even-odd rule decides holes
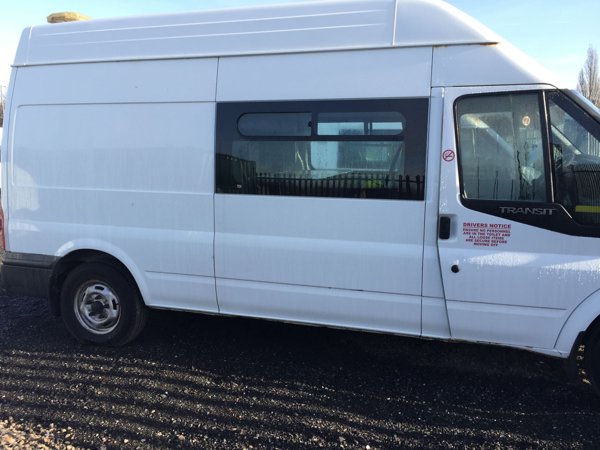
[[[137,289],[140,298],[143,297],[139,292],[139,286],[137,286],[137,282],[130,269],[125,266],[124,263],[121,262],[118,258],[113,256],[110,253],[106,253],[105,251],[93,250],[90,248],[82,248],[79,250],[71,251],[71,253],[66,254],[61,257],[56,263],[52,278],[50,279],[49,284],[49,293],[48,293],[48,308],[52,314],[55,316],[61,316],[61,290],[64,284],[65,279],[68,275],[75,269],[76,267],[82,265],[86,262],[101,262],[107,265],[112,266],[122,275],[124,275],[128,280],[130,280],[131,284],[135,289]]]

